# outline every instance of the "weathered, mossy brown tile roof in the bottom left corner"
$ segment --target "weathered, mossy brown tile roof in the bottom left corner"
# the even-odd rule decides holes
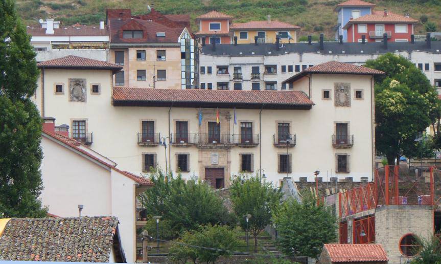
[[[116,217],[11,218],[0,260],[109,262]]]

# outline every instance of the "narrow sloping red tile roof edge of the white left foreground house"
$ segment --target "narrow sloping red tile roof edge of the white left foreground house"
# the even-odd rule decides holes
[[[75,150],[81,152],[83,155],[86,155],[87,157],[89,157],[89,158],[91,158],[91,159],[93,159],[93,160],[95,160],[95,161],[97,161],[97,162],[103,164],[104,166],[109,167],[109,168],[111,168],[111,169],[113,169],[113,170],[118,171],[119,173],[125,175],[126,177],[132,179],[133,181],[135,181],[135,182],[137,182],[137,183],[140,183],[140,184],[142,184],[142,185],[147,185],[147,186],[153,186],[153,183],[152,183],[149,179],[147,179],[147,178],[145,178],[145,177],[141,177],[141,176],[135,175],[135,174],[130,173],[130,172],[128,172],[128,171],[120,170],[120,169],[118,169],[117,167],[115,167],[115,166],[113,166],[113,165],[111,165],[111,164],[109,164],[109,163],[103,161],[102,159],[100,159],[100,158],[98,158],[98,157],[92,155],[91,153],[89,153],[89,152],[87,152],[87,151],[81,149],[80,147],[78,147],[80,144],[79,144],[79,142],[76,141],[76,140],[73,140],[73,139],[71,139],[71,138],[68,138],[68,137],[66,137],[66,136],[64,136],[64,135],[61,135],[61,134],[59,134],[59,133],[51,133],[51,131],[44,130],[44,129],[42,130],[42,132],[43,132],[45,135],[48,135],[48,136],[50,136],[50,137],[52,137],[52,138],[54,138],[54,139],[56,139],[56,140],[58,140],[58,141],[60,141],[60,142],[62,142],[62,143],[64,143],[64,144],[66,144],[67,146],[69,146],[69,147],[71,147],[71,148],[73,148],[73,149],[75,149]]]

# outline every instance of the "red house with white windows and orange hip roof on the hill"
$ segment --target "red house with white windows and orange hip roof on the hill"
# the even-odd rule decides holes
[[[372,14],[360,16],[343,27],[347,30],[347,42],[381,42],[387,34],[387,41],[411,41],[413,28],[418,20],[408,15],[402,16],[384,11],[373,11]]]

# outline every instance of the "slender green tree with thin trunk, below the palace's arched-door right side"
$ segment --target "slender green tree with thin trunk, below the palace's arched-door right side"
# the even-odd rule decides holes
[[[272,212],[282,198],[281,189],[275,190],[272,183],[262,183],[258,175],[239,175],[231,182],[230,192],[233,209],[243,230],[247,228],[244,215],[251,214],[248,230],[254,237],[254,249],[257,250],[257,236],[271,223]]]

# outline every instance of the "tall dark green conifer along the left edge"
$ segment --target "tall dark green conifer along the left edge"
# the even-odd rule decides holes
[[[41,217],[38,69],[12,0],[0,0],[0,217]]]

